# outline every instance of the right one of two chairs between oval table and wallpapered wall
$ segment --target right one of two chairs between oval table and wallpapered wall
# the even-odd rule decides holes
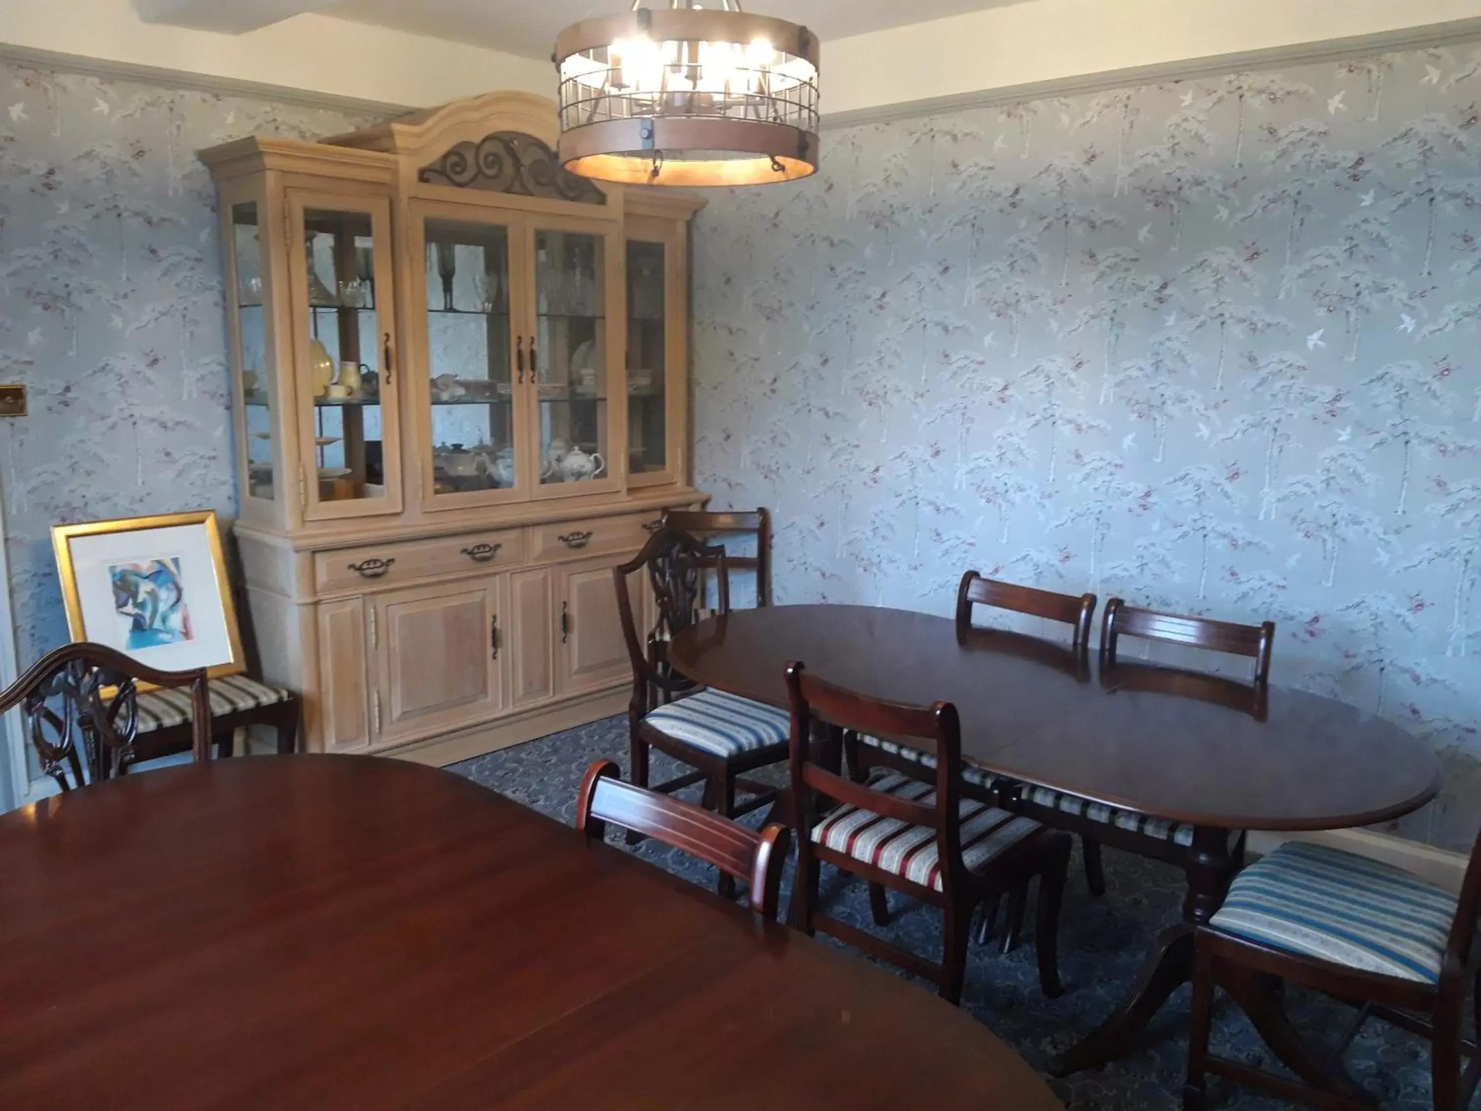
[[[1179,644],[1191,649],[1207,649],[1235,656],[1246,656],[1253,661],[1251,675],[1247,683],[1225,675],[1207,675],[1203,673],[1186,673],[1169,667],[1148,667],[1143,664],[1123,665],[1118,659],[1121,637],[1136,637],[1142,640]],[[1161,613],[1149,609],[1127,606],[1121,598],[1111,598],[1106,603],[1100,621],[1100,681],[1105,686],[1118,686],[1118,675],[1126,675],[1127,687],[1131,687],[1139,675],[1146,674],[1155,680],[1155,686],[1167,693],[1185,693],[1189,698],[1213,701],[1207,690],[1194,690],[1198,680],[1206,680],[1201,686],[1217,686],[1219,699],[1226,705],[1234,705],[1229,690],[1246,692],[1247,707],[1251,714],[1260,713],[1268,693],[1271,673],[1271,644],[1275,640],[1275,624],[1266,621],[1262,625],[1237,625],[1226,621],[1211,621],[1210,618],[1189,618],[1174,613]],[[1169,680],[1185,675],[1189,683],[1186,692],[1169,689]],[[997,784],[1003,806],[1012,810],[1022,810],[1044,821],[1053,821],[1062,828],[1074,828],[1087,844],[1097,843],[1094,850],[1099,865],[1099,844],[1109,844],[1117,849],[1167,861],[1183,868],[1200,867],[1194,853],[1194,827],[1183,822],[1169,822],[1161,818],[1151,818],[1136,810],[1118,809],[1097,803],[1069,791],[1056,791],[1049,787],[1025,785],[1012,793],[1007,784]],[[1243,831],[1229,833],[1229,852],[1238,856],[1243,850]],[[1087,856],[1087,871],[1090,858]],[[1091,890],[1105,890],[1105,880],[1094,868]]]

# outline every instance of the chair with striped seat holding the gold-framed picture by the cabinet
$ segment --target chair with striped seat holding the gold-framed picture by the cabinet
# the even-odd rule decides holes
[[[247,675],[210,680],[210,738],[218,757],[231,755],[238,729],[273,729],[280,754],[298,745],[299,698],[292,690]],[[181,690],[139,695],[138,763],[190,750],[191,705]]]

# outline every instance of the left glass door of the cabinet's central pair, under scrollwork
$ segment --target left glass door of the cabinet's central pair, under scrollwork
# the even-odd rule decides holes
[[[437,209],[431,209],[437,212]],[[504,501],[449,495],[521,490],[515,443],[515,237],[505,224],[424,216],[425,384],[429,412],[428,493],[449,505]],[[520,379],[526,336],[518,336]],[[418,384],[421,391],[422,384]],[[511,495],[512,496],[512,495]]]

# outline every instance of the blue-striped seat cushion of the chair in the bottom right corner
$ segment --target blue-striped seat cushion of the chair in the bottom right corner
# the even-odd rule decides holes
[[[1351,969],[1435,984],[1456,896],[1365,856],[1287,841],[1235,877],[1211,926]]]

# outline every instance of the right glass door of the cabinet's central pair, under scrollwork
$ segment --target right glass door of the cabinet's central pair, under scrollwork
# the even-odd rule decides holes
[[[533,231],[535,336],[526,357],[535,382],[539,484],[548,492],[597,483],[610,489],[621,474],[607,424],[609,292],[618,261],[607,240],[601,231]],[[595,492],[592,486],[561,492]]]

